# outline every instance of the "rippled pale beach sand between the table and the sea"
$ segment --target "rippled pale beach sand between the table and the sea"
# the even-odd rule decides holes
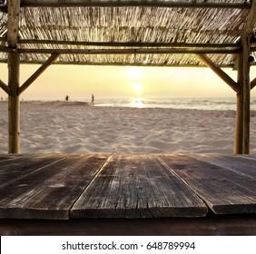
[[[7,103],[0,102],[0,153],[7,152]],[[256,153],[251,112],[251,153]],[[21,152],[233,152],[234,111],[22,102]]]

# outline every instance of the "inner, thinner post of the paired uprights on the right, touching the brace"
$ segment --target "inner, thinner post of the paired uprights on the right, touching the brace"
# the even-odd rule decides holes
[[[234,153],[242,153],[243,141],[243,85],[242,85],[242,54],[238,54],[238,76],[237,83],[240,86],[239,92],[236,94],[236,123],[234,135]]]

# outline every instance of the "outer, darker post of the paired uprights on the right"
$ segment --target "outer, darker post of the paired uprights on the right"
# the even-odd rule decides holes
[[[243,143],[242,153],[250,153],[250,37],[241,37],[242,47],[242,87],[243,87]]]

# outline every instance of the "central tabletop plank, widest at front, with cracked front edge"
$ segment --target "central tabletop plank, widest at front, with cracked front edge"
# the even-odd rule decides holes
[[[150,154],[114,154],[71,210],[73,218],[201,217],[207,208]]]

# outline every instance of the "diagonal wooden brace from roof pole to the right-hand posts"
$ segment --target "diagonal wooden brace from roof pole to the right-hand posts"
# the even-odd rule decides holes
[[[227,73],[224,73],[221,68],[216,66],[208,56],[204,54],[197,54],[197,57],[209,68],[211,68],[212,71],[216,73],[225,83],[227,83],[231,89],[233,89],[236,93],[239,93],[240,87],[238,83],[234,82]]]

